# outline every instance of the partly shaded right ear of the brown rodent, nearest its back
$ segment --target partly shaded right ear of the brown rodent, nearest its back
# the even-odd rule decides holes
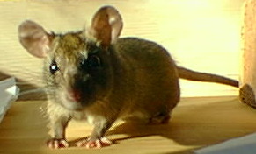
[[[107,47],[120,36],[121,29],[122,19],[119,12],[112,6],[104,6],[92,18],[90,32],[101,45]]]

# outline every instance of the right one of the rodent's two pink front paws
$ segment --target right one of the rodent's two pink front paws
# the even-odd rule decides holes
[[[91,148],[101,148],[104,146],[109,146],[113,144],[112,141],[107,139],[106,137],[100,137],[96,139],[92,139],[91,137],[80,140],[76,143],[78,147],[86,147],[87,149]]]

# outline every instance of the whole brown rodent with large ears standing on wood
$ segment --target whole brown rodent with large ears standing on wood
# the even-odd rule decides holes
[[[118,118],[138,116],[147,123],[168,123],[179,102],[179,78],[238,87],[238,81],[176,66],[155,42],[119,38],[122,25],[113,6],[101,7],[84,31],[48,33],[30,20],[19,25],[21,45],[45,61],[53,132],[48,147],[69,146],[65,129],[71,119],[86,119],[94,125],[91,136],[77,142],[87,148],[112,144],[105,133]]]

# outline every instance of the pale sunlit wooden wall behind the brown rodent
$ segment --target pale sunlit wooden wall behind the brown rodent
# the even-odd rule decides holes
[[[163,45],[179,66],[239,79],[241,6],[244,0],[10,0],[0,1],[0,79],[15,76],[22,91],[42,86],[42,59],[18,42],[18,25],[32,19],[47,31],[77,31],[90,25],[100,6],[111,4],[124,20],[121,37]],[[26,85],[24,84],[26,83]],[[191,90],[194,89],[194,90]],[[236,88],[181,81],[183,96],[237,95]],[[25,99],[39,99],[30,94]]]

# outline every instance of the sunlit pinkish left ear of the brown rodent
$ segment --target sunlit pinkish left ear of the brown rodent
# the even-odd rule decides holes
[[[18,38],[27,52],[37,58],[45,58],[53,36],[35,22],[26,20],[18,27]]]

